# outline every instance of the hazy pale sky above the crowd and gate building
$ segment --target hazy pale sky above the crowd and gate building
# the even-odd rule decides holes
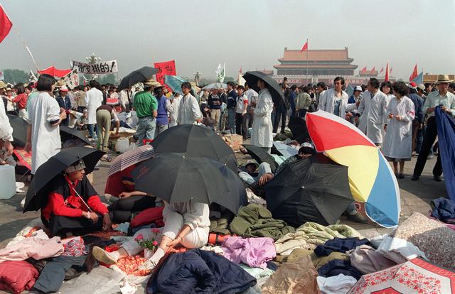
[[[119,77],[153,60],[177,74],[215,77],[272,69],[284,47],[349,48],[359,69],[393,67],[409,78],[455,73],[455,0],[0,0],[41,68],[68,68],[94,52],[117,59]],[[0,43],[0,69],[33,69],[14,30]]]

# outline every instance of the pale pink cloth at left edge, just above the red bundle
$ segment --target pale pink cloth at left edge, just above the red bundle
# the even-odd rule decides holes
[[[0,263],[4,261],[24,261],[27,258],[36,260],[60,256],[63,244],[59,237],[41,239],[31,237],[0,250]]]

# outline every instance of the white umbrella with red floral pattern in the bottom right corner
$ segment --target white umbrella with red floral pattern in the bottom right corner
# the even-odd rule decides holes
[[[455,292],[455,273],[422,258],[368,273],[350,288],[348,294],[446,294]]]

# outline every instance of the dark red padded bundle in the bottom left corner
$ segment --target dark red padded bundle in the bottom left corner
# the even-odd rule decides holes
[[[13,293],[31,290],[38,276],[38,270],[27,261],[2,262],[0,263],[0,290],[9,290]]]

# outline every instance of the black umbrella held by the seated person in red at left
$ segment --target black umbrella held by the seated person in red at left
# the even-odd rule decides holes
[[[92,173],[98,160],[102,158],[105,152],[98,151],[95,148],[86,147],[71,147],[62,149],[48,159],[38,170],[28,187],[26,195],[26,204],[23,207],[23,212],[38,210],[48,203],[48,183],[50,183],[57,175],[61,174],[68,166],[77,163],[79,160],[84,160],[85,173]]]

